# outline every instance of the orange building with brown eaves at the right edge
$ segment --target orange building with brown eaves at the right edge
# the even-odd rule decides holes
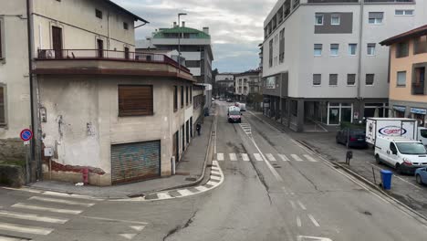
[[[427,127],[427,25],[380,43],[390,46],[390,107],[393,117],[408,117]]]

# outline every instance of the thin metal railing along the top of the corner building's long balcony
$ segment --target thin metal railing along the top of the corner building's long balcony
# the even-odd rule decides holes
[[[116,51],[103,49],[39,49],[37,59],[68,59],[68,60],[116,60],[141,63],[164,63],[180,68],[178,62],[163,54]],[[184,72],[190,69],[181,66]]]

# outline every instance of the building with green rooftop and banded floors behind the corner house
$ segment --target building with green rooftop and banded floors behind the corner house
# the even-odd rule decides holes
[[[183,65],[189,68],[199,83],[213,84],[212,61],[213,52],[209,27],[203,30],[194,29],[173,23],[172,28],[160,28],[147,40],[146,47],[159,50],[181,50]]]

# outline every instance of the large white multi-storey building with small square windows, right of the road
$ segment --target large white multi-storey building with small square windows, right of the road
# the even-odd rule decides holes
[[[421,26],[423,1],[279,0],[266,17],[266,115],[295,131],[388,115],[388,47]]]

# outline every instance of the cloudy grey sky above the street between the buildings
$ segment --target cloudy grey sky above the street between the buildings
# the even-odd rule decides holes
[[[213,41],[213,68],[240,72],[257,68],[263,22],[276,0],[113,0],[150,22],[137,29],[137,39],[159,27],[171,27],[177,13],[186,26],[209,26]]]

